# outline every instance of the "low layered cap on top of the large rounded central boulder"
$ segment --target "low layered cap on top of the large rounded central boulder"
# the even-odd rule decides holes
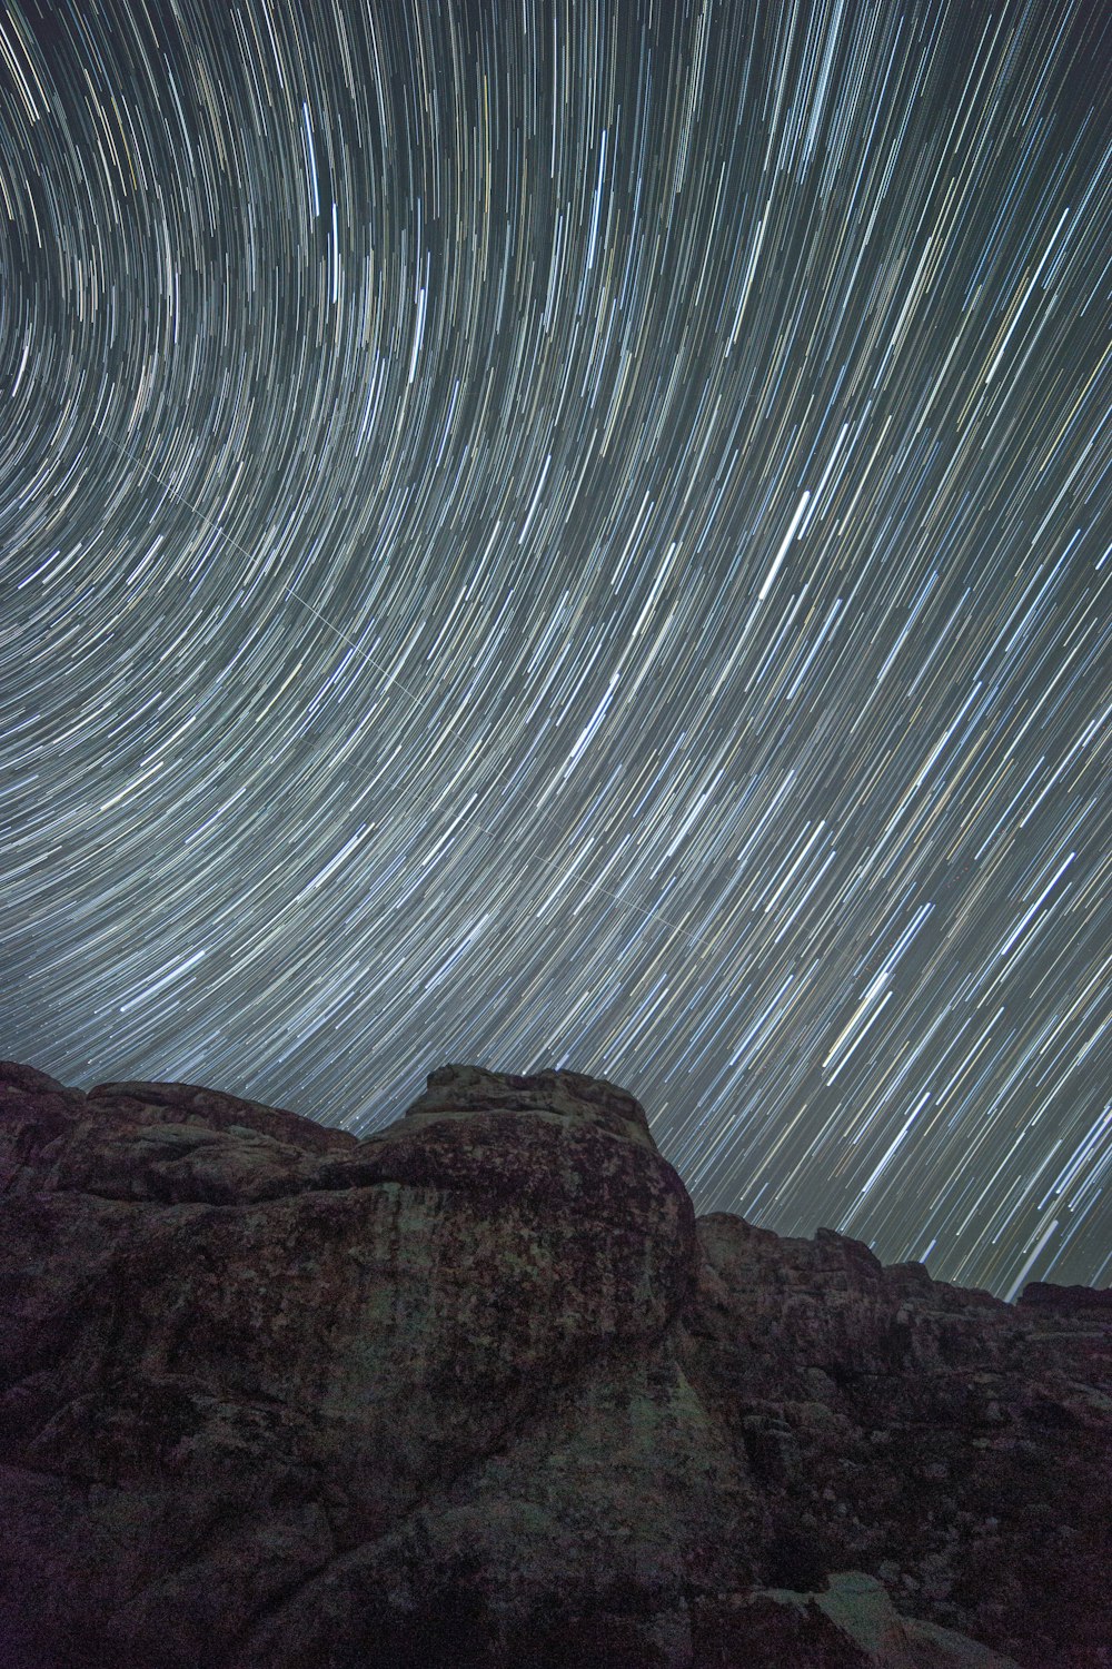
[[[475,1113],[538,1113],[547,1118],[579,1120],[657,1150],[640,1102],[605,1078],[582,1071],[488,1071],[485,1066],[437,1066],[407,1120],[432,1123],[470,1118]]]

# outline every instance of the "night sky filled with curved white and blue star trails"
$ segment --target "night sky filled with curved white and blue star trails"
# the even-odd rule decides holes
[[[0,1053],[1112,1277],[1102,5],[0,10]]]

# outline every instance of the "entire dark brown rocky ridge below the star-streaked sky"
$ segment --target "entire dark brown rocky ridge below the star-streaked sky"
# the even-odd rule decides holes
[[[0,1066],[3,1669],[1110,1669],[1112,1308],[695,1220],[639,1103]]]

